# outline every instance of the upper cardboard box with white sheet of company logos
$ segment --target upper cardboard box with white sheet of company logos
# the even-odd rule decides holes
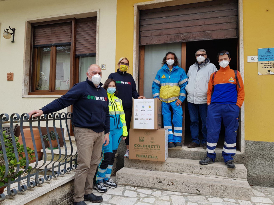
[[[132,106],[132,128],[162,128],[162,106],[159,99],[134,99]]]

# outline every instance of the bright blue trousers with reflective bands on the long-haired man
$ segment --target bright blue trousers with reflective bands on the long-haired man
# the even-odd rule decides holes
[[[168,142],[182,142],[182,123],[183,123],[183,109],[182,106],[176,105],[176,101],[171,103],[162,102],[162,115],[164,118],[164,128],[168,129]],[[172,132],[171,111],[173,111],[172,123],[174,132]]]

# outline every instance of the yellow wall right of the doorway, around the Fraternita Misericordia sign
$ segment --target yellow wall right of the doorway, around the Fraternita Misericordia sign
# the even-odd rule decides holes
[[[258,75],[257,63],[247,63],[258,48],[274,47],[273,19],[273,0],[243,1],[246,140],[274,142],[274,75]]]

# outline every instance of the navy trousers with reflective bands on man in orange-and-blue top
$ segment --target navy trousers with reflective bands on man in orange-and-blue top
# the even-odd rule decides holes
[[[207,156],[215,161],[215,148],[219,140],[221,122],[225,126],[225,144],[223,146],[224,161],[233,160],[236,153],[236,136],[239,127],[240,108],[236,104],[210,104],[207,107]]]

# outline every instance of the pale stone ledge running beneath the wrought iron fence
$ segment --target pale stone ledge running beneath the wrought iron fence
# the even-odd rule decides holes
[[[31,191],[28,189],[25,192],[17,192],[17,195],[14,197],[6,196],[5,200],[1,202],[1,205],[23,205],[47,194],[48,192],[66,184],[67,182],[74,179],[75,172],[66,173],[63,176],[59,176],[57,178],[53,178],[51,181],[45,181],[42,185],[38,185],[33,188]],[[50,196],[49,196],[50,197]],[[51,196],[52,198],[58,196]]]

